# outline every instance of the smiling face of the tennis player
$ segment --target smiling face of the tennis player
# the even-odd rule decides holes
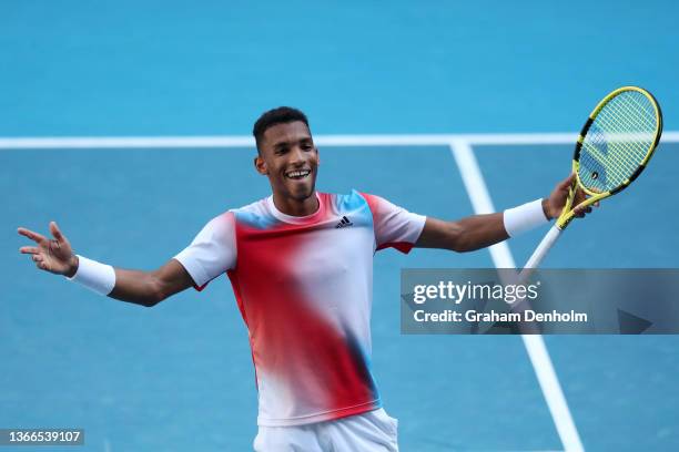
[[[268,127],[260,143],[255,167],[260,174],[268,176],[271,188],[277,196],[295,201],[312,196],[318,171],[318,151],[306,124],[295,121]]]

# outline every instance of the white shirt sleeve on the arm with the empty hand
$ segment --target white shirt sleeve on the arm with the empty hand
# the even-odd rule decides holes
[[[236,242],[233,213],[226,212],[211,219],[191,245],[174,259],[189,271],[196,289],[235,267]]]

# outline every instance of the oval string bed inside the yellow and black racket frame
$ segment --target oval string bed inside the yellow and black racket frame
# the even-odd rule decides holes
[[[651,101],[624,91],[601,107],[582,142],[578,175],[594,192],[622,185],[652,148],[658,117]]]

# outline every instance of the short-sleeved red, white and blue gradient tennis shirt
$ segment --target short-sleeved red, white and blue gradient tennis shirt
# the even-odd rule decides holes
[[[229,210],[174,258],[196,287],[226,273],[247,326],[260,425],[297,425],[381,407],[371,371],[373,256],[408,253],[425,217],[354,191],[318,210],[268,197]]]

